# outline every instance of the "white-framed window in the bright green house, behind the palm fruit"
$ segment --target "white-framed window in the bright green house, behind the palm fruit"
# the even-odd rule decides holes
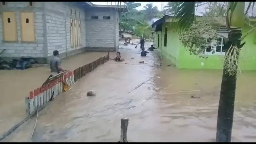
[[[225,55],[223,51],[223,47],[225,44],[225,40],[222,37],[219,37],[217,42],[211,42],[209,39],[205,40],[206,44],[201,46],[201,49],[205,48],[204,54],[206,55]]]

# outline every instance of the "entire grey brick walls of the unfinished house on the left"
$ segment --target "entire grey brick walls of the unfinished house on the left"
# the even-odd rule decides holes
[[[0,51],[6,49],[3,57],[19,58],[32,56],[45,58],[52,56],[54,50],[60,52],[62,58],[85,50],[118,49],[118,12],[114,8],[79,7],[74,2],[6,2],[7,6],[0,7]],[[4,42],[1,12],[16,12],[18,42]],[[72,11],[72,12],[71,12]],[[20,12],[35,13],[36,42],[21,42]],[[76,12],[76,16],[75,16]],[[79,17],[80,13],[80,17]],[[92,20],[91,16],[99,16]],[[110,16],[110,20],[103,20]],[[81,21],[81,46],[72,48],[70,44],[70,18]],[[102,50],[100,49],[100,50]]]

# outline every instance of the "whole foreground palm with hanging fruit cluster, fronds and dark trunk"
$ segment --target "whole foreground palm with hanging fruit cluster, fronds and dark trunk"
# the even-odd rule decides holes
[[[196,2],[178,2],[177,12],[174,13],[172,22],[177,22],[180,26],[180,40],[191,54],[200,55],[199,57],[208,58],[204,53],[205,38],[216,41],[220,34],[217,32],[218,26],[225,25],[228,28],[228,37],[224,37],[226,44],[225,58],[223,62],[223,74],[220,89],[220,100],[217,118],[216,142],[231,142],[231,132],[234,115],[234,101],[236,92],[236,75],[239,70],[238,58],[241,48],[245,42],[241,41],[248,33],[255,30],[252,28],[247,34],[242,36],[241,28],[244,27],[246,14],[255,2],[250,2],[245,11],[245,2],[226,2],[225,18],[220,15],[209,17],[204,22],[197,21],[195,16]],[[224,7],[224,4],[223,4]],[[222,23],[223,20],[225,23]],[[200,34],[198,35],[198,33]],[[205,37],[206,36],[206,37]]]

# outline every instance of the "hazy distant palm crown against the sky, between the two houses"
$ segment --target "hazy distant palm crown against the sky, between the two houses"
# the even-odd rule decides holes
[[[152,3],[146,4],[143,8],[144,10],[141,10],[141,12],[144,13],[145,20],[152,20],[159,13],[157,6],[153,6]]]

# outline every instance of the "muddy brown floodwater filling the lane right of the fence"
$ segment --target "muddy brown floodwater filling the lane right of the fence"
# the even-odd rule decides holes
[[[215,141],[222,71],[177,69],[134,46],[120,52],[125,62],[99,66],[40,111],[32,140],[35,118],[1,142],[117,142],[122,117],[129,142]],[[254,72],[238,76],[233,142],[256,140],[255,83]]]

